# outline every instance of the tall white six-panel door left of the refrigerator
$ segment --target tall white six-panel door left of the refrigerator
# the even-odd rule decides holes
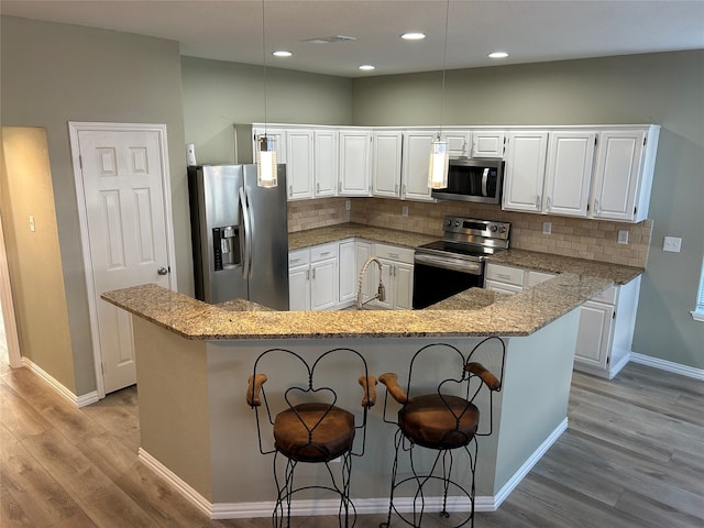
[[[97,336],[105,392],[110,393],[136,383],[132,316],[100,300],[100,294],[150,283],[173,286],[167,168],[163,138],[155,130],[79,130],[77,139]]]

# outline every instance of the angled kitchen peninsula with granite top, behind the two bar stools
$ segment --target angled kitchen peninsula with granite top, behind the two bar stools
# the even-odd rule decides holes
[[[135,316],[141,460],[212,518],[268,516],[273,508],[271,460],[258,454],[245,404],[246,378],[265,350],[311,358],[349,346],[366,358],[372,374],[403,376],[426,344],[449,343],[466,353],[483,337],[501,337],[504,386],[494,399],[494,433],[481,439],[477,465],[476,507],[492,510],[566,428],[580,306],[642,272],[595,266],[593,274],[561,273],[512,297],[466,292],[448,299],[449,309],[417,311],[279,312],[241,300],[211,306],[155,285],[102,298]],[[496,356],[482,361],[496,367]],[[381,407],[372,409],[367,429],[374,449],[354,461],[351,495],[360,513],[385,512],[387,504],[394,431]],[[316,479],[315,468],[306,470],[304,479]],[[337,502],[294,509],[322,515],[337,512]]]

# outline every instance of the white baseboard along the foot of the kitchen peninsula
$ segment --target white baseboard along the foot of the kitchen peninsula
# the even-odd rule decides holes
[[[550,433],[550,436],[538,447],[530,458],[516,471],[495,496],[477,496],[474,499],[475,512],[495,512],[508,497],[510,492],[524,480],[534,465],[542,458],[550,447],[560,438],[568,428],[565,418]],[[178,493],[194,504],[211,519],[252,519],[257,517],[270,517],[274,510],[273,501],[262,501],[255,503],[210,503],[196,490],[190,487],[178,475],[163,465],[144,449],[139,450],[140,460],[162,479],[167,481]],[[394,506],[398,512],[410,513],[414,509],[413,497],[397,497]],[[354,507],[359,515],[386,514],[388,512],[388,497],[385,498],[355,498]],[[426,512],[440,512],[442,509],[442,497],[426,497]],[[293,501],[290,515],[293,517],[338,515],[340,501],[330,498],[322,501]],[[448,512],[469,512],[470,503],[466,497],[448,497]]]

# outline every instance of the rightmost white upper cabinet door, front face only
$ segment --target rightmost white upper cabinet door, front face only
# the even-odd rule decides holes
[[[642,130],[600,134],[592,217],[623,221],[636,218],[646,135]]]

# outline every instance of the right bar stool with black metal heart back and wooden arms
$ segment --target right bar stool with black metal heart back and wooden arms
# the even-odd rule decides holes
[[[473,361],[482,349],[483,358],[499,365],[499,377]],[[392,513],[396,513],[404,522],[420,527],[427,506],[439,509],[440,515],[449,519],[448,509],[465,512],[466,506],[461,503],[466,504],[466,499],[469,515],[460,516],[457,524],[454,520],[448,522],[452,522],[454,528],[468,522],[474,526],[476,437],[492,433],[493,395],[501,391],[505,355],[505,343],[495,337],[482,340],[466,358],[450,344],[430,344],[416,352],[411,359],[405,388],[398,383],[395,373],[378,377],[386,386],[384,421],[397,426],[388,516],[381,527],[391,526]],[[437,374],[437,378],[433,374]],[[430,378],[435,381],[429,383]],[[477,402],[480,394],[487,394],[488,402]],[[400,404],[396,421],[387,419],[388,395]],[[480,407],[488,409],[488,428],[485,431],[480,431],[479,428]],[[429,463],[427,457],[424,459],[416,453],[419,448],[431,451]],[[408,455],[413,476],[404,477],[399,469],[400,458],[405,453]],[[468,458],[466,464],[471,473],[469,490],[464,483],[459,482],[462,475],[452,473],[453,465],[459,462],[459,459],[455,460],[458,454],[465,454]],[[394,504],[395,495],[402,487],[413,499],[413,505],[406,505],[405,508]],[[449,496],[451,490],[453,493],[459,492],[459,495]],[[449,498],[453,508],[448,508]],[[397,503],[400,502],[397,499]],[[402,513],[399,509],[411,512]],[[413,517],[409,513],[413,513]]]

